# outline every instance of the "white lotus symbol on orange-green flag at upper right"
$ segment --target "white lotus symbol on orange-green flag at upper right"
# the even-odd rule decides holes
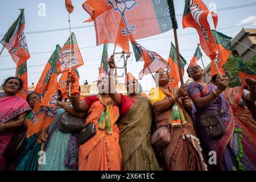
[[[209,41],[210,37],[208,35],[208,31],[204,28],[203,24],[201,24],[200,22],[201,15],[206,11],[199,9],[199,4],[196,4],[196,5],[193,5],[193,4],[194,4],[194,1],[189,0],[189,9],[191,11],[191,15],[193,16],[197,24],[199,24],[199,26],[202,28],[205,41]]]

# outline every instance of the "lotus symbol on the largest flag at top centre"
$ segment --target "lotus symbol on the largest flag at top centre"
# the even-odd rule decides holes
[[[108,4],[113,7],[115,11],[118,11],[123,19],[123,22],[126,25],[126,28],[121,29],[123,36],[129,35],[135,32],[135,26],[129,25],[125,17],[126,10],[132,10],[135,5],[138,5],[136,0],[108,0]]]

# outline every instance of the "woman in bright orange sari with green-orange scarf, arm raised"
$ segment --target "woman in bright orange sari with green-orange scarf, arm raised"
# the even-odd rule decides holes
[[[108,77],[101,77],[98,82],[98,96],[69,96],[76,111],[88,111],[85,125],[92,122],[96,126],[96,135],[79,146],[79,171],[120,171],[122,153],[119,146],[117,119],[119,109],[109,97]]]

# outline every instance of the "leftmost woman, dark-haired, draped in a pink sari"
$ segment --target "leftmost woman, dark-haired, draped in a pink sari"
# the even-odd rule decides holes
[[[3,84],[5,94],[0,98],[0,171],[10,169],[3,152],[31,110],[27,101],[15,96],[21,88],[22,80],[16,77],[7,78]]]

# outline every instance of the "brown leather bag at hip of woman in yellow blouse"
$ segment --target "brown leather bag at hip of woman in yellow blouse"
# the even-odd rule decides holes
[[[171,142],[171,136],[167,126],[159,127],[151,137],[151,144],[159,148],[166,146],[169,142]]]

